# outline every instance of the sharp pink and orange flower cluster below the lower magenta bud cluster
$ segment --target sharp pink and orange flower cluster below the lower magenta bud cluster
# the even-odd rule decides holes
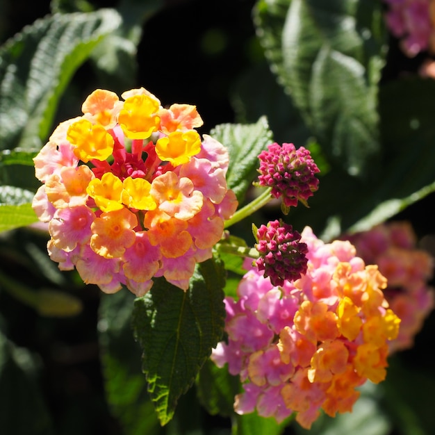
[[[386,377],[400,319],[384,297],[385,277],[349,241],[325,244],[305,227],[301,242],[306,273],[282,286],[247,260],[238,299],[225,299],[228,338],[212,359],[243,381],[237,413],[256,410],[281,422],[294,412],[309,429],[320,409],[352,411],[356,387]]]

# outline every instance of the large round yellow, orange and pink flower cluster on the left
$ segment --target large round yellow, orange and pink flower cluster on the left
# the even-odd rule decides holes
[[[227,149],[201,138],[195,106],[163,108],[144,88],[95,90],[82,111],[34,158],[51,259],[106,293],[143,295],[161,276],[186,290],[237,208]]]

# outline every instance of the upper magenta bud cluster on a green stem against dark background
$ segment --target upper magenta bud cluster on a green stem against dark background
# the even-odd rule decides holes
[[[318,189],[319,181],[315,174],[320,170],[308,149],[296,149],[290,143],[281,147],[275,142],[268,145],[268,151],[262,151],[258,158],[258,184],[272,188],[272,195],[281,197],[286,208],[297,206],[298,201],[306,204]]]

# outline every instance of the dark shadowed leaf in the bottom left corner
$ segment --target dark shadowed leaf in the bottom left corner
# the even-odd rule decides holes
[[[37,378],[37,361],[0,332],[0,427],[2,434],[54,434]]]

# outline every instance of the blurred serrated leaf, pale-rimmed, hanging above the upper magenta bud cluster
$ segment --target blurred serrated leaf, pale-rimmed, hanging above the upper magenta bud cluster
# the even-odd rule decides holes
[[[325,47],[313,65],[309,90],[315,132],[330,157],[344,158],[351,175],[361,174],[379,151],[377,99],[368,98],[365,73],[352,56]]]

